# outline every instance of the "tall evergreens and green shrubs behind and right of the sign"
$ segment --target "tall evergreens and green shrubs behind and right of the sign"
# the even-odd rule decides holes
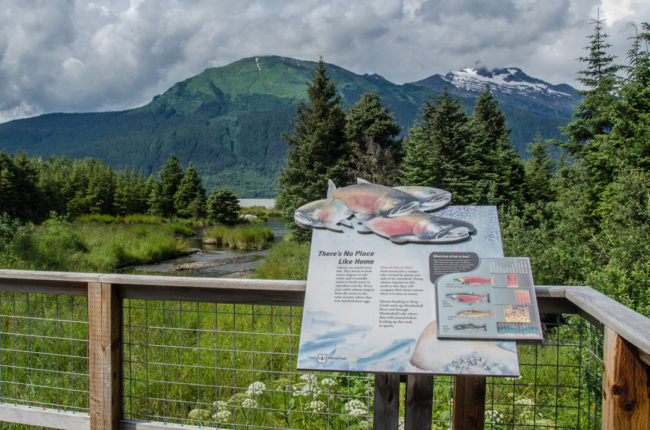
[[[650,26],[616,64],[603,21],[592,23],[578,59],[583,101],[565,139],[538,135],[525,162],[489,88],[472,114],[446,91],[430,99],[402,141],[376,94],[344,112],[320,61],[284,135],[277,205],[287,223],[295,228],[295,209],[325,197],[328,179],[443,188],[454,204],[498,206],[506,253],[529,256],[538,284],[588,284],[650,315]]]

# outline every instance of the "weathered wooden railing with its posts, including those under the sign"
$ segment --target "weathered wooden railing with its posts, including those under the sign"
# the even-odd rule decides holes
[[[86,296],[89,337],[89,414],[0,403],[0,421],[159,429],[161,423],[123,418],[123,299],[302,306],[305,282],[0,270],[0,291]],[[579,314],[604,331],[602,428],[650,428],[650,320],[589,287],[538,286],[536,294],[542,314]],[[406,383],[405,428],[430,428],[432,377],[391,374],[375,375],[373,428],[397,428],[400,381]],[[455,378],[454,429],[483,428],[485,384],[484,377]]]

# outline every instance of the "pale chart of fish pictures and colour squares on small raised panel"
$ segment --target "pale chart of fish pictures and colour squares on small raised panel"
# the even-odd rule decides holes
[[[481,260],[436,281],[439,338],[541,341],[542,327],[527,258]]]

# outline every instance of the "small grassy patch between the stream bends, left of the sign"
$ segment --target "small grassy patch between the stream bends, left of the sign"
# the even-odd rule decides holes
[[[273,242],[273,232],[261,224],[216,225],[205,230],[204,241],[228,248],[264,249]]]

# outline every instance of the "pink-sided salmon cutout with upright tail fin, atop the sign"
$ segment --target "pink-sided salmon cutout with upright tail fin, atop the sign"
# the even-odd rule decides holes
[[[327,197],[341,200],[362,221],[376,216],[399,217],[420,206],[418,199],[404,191],[369,182],[336,188],[330,180]]]

